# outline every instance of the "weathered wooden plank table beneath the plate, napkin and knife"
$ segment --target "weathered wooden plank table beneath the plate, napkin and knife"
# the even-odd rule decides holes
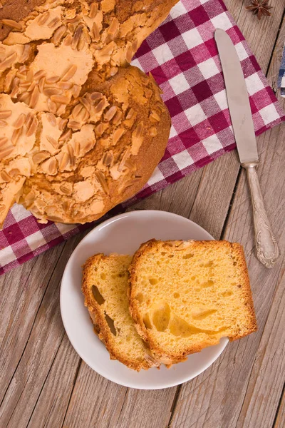
[[[260,22],[244,1],[227,6],[276,91],[284,0],[271,3],[272,16]],[[78,357],[61,322],[61,275],[78,235],[0,279],[1,428],[285,427],[284,141],[284,126],[258,138],[261,188],[281,250],[272,270],[254,256],[249,191],[235,151],[131,208],[184,215],[214,238],[242,243],[258,332],[230,343],[179,387],[140,391],[109,382]]]

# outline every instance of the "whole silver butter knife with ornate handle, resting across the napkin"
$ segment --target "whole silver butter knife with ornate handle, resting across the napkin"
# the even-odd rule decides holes
[[[257,175],[259,156],[244,73],[237,51],[227,33],[222,29],[217,29],[214,33],[214,39],[217,43],[222,71],[224,72],[227,102],[239,160],[247,170],[247,179],[252,195],[254,244],[257,258],[264,266],[273,267],[279,256],[279,250],[266,215]]]

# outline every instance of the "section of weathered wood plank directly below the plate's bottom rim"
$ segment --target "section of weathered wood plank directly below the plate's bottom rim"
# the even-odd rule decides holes
[[[174,392],[121,387],[82,363],[63,427],[165,427]]]

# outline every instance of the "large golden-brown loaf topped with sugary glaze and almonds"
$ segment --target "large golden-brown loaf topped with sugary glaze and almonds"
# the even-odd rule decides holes
[[[170,116],[128,63],[176,1],[6,1],[0,223],[15,200],[43,223],[90,222],[150,178]]]

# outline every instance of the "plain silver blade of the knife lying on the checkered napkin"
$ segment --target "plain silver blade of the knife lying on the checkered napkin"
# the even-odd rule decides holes
[[[224,82],[227,89],[227,102],[234,129],[234,138],[241,163],[258,161],[257,141],[252,121],[252,111],[247,94],[237,51],[226,31],[217,29],[214,33],[219,58],[224,72]]]

